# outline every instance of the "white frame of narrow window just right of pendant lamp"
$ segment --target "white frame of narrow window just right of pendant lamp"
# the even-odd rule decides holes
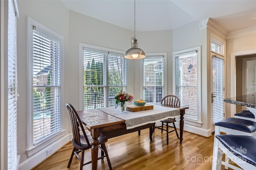
[[[146,58],[158,58],[163,57],[163,97],[167,95],[167,53],[146,53]],[[144,99],[144,59],[142,60],[142,78],[141,78],[141,84],[142,84],[142,98]]]

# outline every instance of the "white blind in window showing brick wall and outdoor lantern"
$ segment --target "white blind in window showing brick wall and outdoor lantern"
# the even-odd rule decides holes
[[[197,52],[178,54],[176,59],[176,96],[181,106],[188,106],[184,119],[198,120]]]

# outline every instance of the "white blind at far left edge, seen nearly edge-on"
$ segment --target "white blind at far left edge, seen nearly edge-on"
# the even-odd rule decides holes
[[[18,169],[17,155],[17,64],[16,64],[16,12],[12,0],[8,1],[8,170]]]

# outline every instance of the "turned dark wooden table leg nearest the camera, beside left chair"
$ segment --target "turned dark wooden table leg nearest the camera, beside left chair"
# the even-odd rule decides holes
[[[98,137],[100,136],[100,131],[98,129],[93,129],[91,131],[92,136],[92,170],[97,170],[97,162],[98,162]]]

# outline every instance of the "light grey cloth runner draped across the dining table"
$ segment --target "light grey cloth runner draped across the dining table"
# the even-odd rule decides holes
[[[99,110],[108,113],[109,115],[124,119],[126,123],[126,129],[132,129],[148,123],[155,123],[168,118],[179,117],[180,109],[172,107],[164,107],[154,103],[147,103],[153,105],[154,109],[143,110],[143,111],[125,111],[124,113],[118,106],[115,107],[102,107]]]

